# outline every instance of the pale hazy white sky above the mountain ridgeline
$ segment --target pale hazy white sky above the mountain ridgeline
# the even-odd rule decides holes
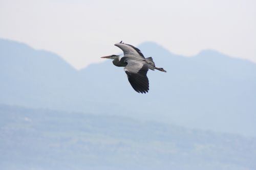
[[[121,40],[256,62],[256,1],[0,0],[0,38],[52,51],[76,68],[119,53],[113,44]]]

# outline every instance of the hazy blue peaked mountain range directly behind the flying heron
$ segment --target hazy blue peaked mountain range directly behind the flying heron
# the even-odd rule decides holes
[[[167,70],[148,72],[147,94],[135,92],[111,61],[77,71],[53,53],[0,39],[0,103],[256,136],[255,63],[213,50],[183,57],[154,42],[139,48]]]

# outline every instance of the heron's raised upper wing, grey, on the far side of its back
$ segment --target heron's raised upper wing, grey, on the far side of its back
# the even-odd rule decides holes
[[[117,47],[121,48],[124,55],[133,55],[133,57],[137,57],[140,59],[145,59],[144,55],[141,53],[139,48],[136,48],[133,45],[130,44],[124,44],[124,43],[116,43]]]

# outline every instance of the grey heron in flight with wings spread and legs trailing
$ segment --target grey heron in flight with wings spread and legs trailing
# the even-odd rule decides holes
[[[149,90],[148,78],[146,76],[148,68],[151,70],[160,70],[166,72],[163,68],[155,66],[152,57],[145,58],[141,51],[130,44],[125,44],[122,41],[115,43],[119,47],[124,56],[119,55],[105,56],[101,58],[113,59],[113,64],[118,67],[124,67],[127,78],[133,89],[138,93],[146,93]]]

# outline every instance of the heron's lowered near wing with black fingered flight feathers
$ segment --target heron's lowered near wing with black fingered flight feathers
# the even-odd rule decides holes
[[[146,77],[148,66],[137,60],[127,60],[124,71],[133,89],[138,93],[146,93],[149,90],[149,83]]]

